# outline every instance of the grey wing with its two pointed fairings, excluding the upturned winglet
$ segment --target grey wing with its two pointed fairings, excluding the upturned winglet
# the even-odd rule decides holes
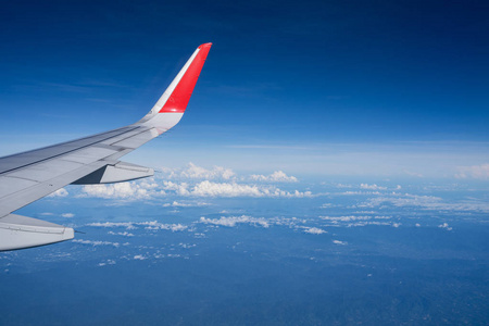
[[[159,134],[155,128],[133,125],[0,158],[0,251],[73,239],[73,228],[13,212],[70,184],[116,183],[152,175],[151,168],[118,159]]]

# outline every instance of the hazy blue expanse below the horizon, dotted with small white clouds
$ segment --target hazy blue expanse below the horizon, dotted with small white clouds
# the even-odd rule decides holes
[[[134,199],[72,186],[21,210],[78,233],[0,253],[0,324],[489,323],[487,183],[304,177],[269,196],[165,187]]]

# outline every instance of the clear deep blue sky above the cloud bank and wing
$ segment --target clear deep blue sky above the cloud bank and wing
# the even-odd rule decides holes
[[[375,174],[428,153],[398,172],[459,160],[442,174],[453,175],[489,162],[487,12],[487,1],[5,2],[0,154],[137,121],[212,41],[180,125],[139,153],[152,164],[340,173],[336,162],[354,174],[364,161]]]

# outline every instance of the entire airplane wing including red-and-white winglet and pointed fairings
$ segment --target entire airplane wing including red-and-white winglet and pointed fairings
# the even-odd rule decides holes
[[[33,151],[0,158],[0,251],[74,238],[73,228],[12,214],[66,185],[134,180],[153,170],[121,156],[175,126],[184,115],[212,43],[201,45],[139,122]]]

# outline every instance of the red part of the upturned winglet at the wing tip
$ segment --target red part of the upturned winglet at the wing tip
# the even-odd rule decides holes
[[[196,87],[197,79],[199,78],[202,66],[208,58],[209,50],[212,43],[204,43],[199,47],[199,52],[193,58],[192,63],[185,72],[178,85],[173,90],[166,103],[160,110],[160,113],[173,112],[184,113],[187,109],[188,101]]]

